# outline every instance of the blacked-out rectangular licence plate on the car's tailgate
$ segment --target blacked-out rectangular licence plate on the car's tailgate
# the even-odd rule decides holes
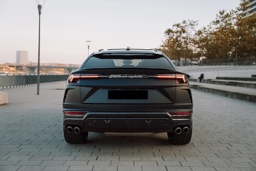
[[[147,90],[109,90],[109,99],[147,99]]]

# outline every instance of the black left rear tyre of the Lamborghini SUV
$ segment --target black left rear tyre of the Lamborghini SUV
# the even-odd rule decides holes
[[[66,142],[70,144],[82,144],[82,143],[85,143],[88,138],[88,132],[74,133],[73,131],[69,133],[64,128],[63,128],[63,132],[64,132],[64,138]]]

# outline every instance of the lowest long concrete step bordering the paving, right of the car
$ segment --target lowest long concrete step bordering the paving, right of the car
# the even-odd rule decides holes
[[[214,94],[256,102],[256,88],[189,82],[191,88]]]

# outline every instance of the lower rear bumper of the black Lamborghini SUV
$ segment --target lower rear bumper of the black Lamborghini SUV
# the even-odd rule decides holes
[[[79,126],[91,132],[174,132],[177,127],[192,128],[191,115],[170,115],[168,112],[87,112],[85,115],[65,114],[63,127]],[[76,110],[77,111],[77,110]],[[80,110],[82,112],[82,110]]]

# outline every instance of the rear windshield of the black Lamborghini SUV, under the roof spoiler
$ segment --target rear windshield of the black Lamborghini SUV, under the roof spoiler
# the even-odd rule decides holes
[[[85,63],[82,70],[98,68],[150,68],[174,70],[171,63],[161,55],[92,56]]]

